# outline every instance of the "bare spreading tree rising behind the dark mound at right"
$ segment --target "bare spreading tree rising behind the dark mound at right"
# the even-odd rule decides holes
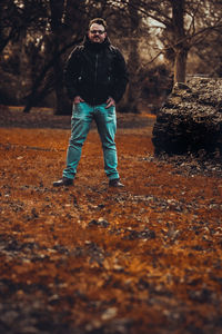
[[[114,1],[120,6],[120,1]],[[222,1],[215,0],[141,0],[121,1],[122,6],[138,10],[142,18],[149,18],[151,26],[161,31],[163,48],[160,55],[171,55],[174,65],[174,82],[184,82],[186,60],[191,48],[201,43],[209,33],[222,27]]]

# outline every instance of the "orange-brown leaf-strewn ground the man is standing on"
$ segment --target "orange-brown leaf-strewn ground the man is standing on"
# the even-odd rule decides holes
[[[109,188],[94,127],[74,186],[70,117],[0,115],[0,333],[222,333],[222,168],[158,159],[154,118],[119,115]]]

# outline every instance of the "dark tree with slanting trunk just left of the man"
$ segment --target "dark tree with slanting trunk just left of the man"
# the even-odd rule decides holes
[[[84,4],[84,3],[83,3]],[[50,0],[48,7],[48,27],[44,41],[46,61],[37,75],[27,97],[24,112],[29,112],[36,102],[49,92],[56,92],[56,114],[70,114],[71,105],[63,86],[63,61],[67,51],[82,40],[80,31],[82,10],[80,0]],[[43,51],[41,51],[43,52]]]

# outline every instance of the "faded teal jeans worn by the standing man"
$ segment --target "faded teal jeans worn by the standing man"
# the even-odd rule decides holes
[[[98,132],[102,143],[104,171],[109,179],[119,178],[117,170],[118,156],[114,143],[117,131],[115,108],[105,109],[105,104],[90,106],[85,102],[73,105],[71,118],[71,137],[67,153],[67,167],[63,177],[73,179],[81,158],[82,146],[87,139],[92,120],[95,120]]]

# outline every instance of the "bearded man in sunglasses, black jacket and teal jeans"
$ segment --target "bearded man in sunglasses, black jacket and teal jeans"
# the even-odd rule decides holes
[[[90,21],[83,46],[78,46],[68,59],[64,80],[73,101],[71,137],[67,167],[62,178],[54,181],[53,186],[73,184],[82,145],[94,119],[102,143],[109,186],[123,187],[117,170],[115,104],[124,94],[128,73],[121,52],[110,43],[103,19]]]

